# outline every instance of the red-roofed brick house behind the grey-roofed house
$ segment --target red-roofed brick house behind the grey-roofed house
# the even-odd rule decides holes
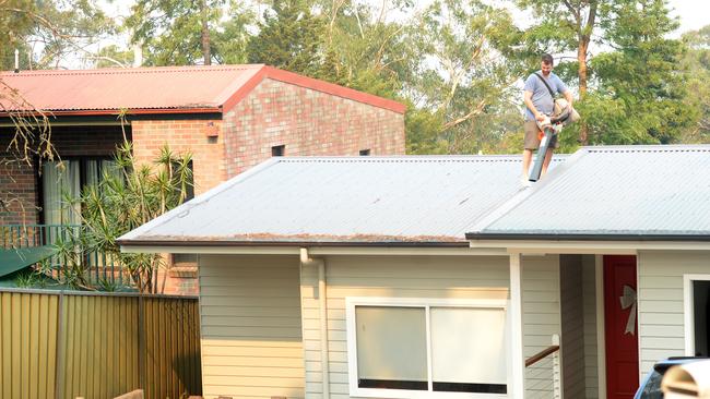
[[[0,226],[74,222],[59,191],[78,192],[98,179],[123,134],[140,161],[152,161],[165,143],[191,152],[196,194],[271,156],[404,154],[402,104],[262,64],[2,72],[0,78],[51,114],[51,140],[67,164],[62,176],[52,162],[42,173],[38,164],[0,165],[3,194],[19,200],[0,209]],[[0,157],[8,157],[12,133],[0,114]]]

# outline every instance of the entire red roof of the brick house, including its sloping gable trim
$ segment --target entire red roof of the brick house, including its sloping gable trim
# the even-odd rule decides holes
[[[382,97],[263,64],[1,72],[36,109],[54,114],[226,112],[264,78],[273,78],[403,113]]]

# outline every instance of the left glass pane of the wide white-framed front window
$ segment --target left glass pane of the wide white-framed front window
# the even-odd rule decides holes
[[[423,307],[356,306],[358,385],[427,389]]]

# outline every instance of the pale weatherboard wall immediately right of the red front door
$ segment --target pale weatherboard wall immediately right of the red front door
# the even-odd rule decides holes
[[[638,254],[639,367],[685,354],[683,275],[710,274],[710,251],[642,251]]]

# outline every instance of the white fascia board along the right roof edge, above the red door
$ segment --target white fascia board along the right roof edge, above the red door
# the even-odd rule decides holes
[[[509,253],[632,255],[638,251],[708,251],[710,242],[689,241],[544,241],[470,240],[471,247],[506,249]]]

